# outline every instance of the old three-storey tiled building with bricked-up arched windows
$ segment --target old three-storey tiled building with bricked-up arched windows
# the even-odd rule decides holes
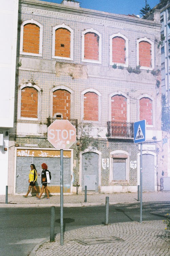
[[[43,162],[52,174],[50,193],[60,193],[60,151],[47,140],[56,118],[77,128],[77,143],[64,150],[64,193],[75,192],[77,184],[82,193],[86,184],[96,193],[137,191],[140,150],[133,123],[141,119],[147,124],[143,190],[159,190],[160,23],[72,1],[22,0],[18,24],[11,193],[24,193],[30,163],[40,171]]]

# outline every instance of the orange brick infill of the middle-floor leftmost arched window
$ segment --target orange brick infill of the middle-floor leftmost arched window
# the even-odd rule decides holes
[[[35,88],[21,90],[21,117],[38,118],[38,91]]]

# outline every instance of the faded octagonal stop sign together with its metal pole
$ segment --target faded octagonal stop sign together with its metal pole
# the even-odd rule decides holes
[[[69,120],[55,120],[47,132],[48,141],[60,150],[60,245],[63,245],[63,149],[68,149],[76,141],[76,128]]]

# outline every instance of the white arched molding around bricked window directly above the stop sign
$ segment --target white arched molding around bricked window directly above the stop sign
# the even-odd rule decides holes
[[[65,85],[58,85],[58,86],[55,86],[53,87],[51,90],[50,90],[50,117],[53,117],[53,92],[56,91],[56,90],[66,90],[70,93],[70,118],[71,117],[71,113],[73,112],[72,110],[72,102],[73,102],[73,90],[71,90],[70,88],[66,87]],[[62,118],[63,118],[63,114],[62,113],[55,113],[55,114],[58,114],[58,115],[62,115]]]

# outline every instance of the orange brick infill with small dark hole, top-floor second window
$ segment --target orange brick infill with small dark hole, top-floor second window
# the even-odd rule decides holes
[[[66,28],[55,30],[55,56],[70,58],[71,33]]]

